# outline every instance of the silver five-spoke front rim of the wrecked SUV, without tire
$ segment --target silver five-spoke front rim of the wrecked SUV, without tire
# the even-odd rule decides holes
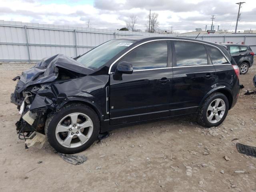
[[[55,135],[62,146],[76,148],[85,144],[92,132],[93,123],[90,117],[83,113],[71,113],[58,122]]]

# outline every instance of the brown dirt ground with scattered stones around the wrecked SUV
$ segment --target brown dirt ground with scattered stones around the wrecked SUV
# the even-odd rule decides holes
[[[18,140],[12,78],[28,67],[0,64],[0,191],[256,192],[256,158],[235,146],[256,146],[256,95],[244,95],[256,90],[256,64],[240,76],[245,88],[221,126],[208,129],[193,117],[180,117],[120,128],[81,152],[88,160],[78,166],[62,160],[49,144],[26,150]]]

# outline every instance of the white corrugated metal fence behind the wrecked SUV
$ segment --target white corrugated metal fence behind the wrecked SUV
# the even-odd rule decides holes
[[[0,62],[36,62],[58,53],[74,57],[108,40],[134,35],[196,38],[182,34],[152,34],[0,20]],[[245,42],[256,52],[256,34],[203,34],[197,39],[217,43]]]

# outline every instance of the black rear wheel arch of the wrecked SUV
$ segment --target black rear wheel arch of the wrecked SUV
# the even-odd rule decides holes
[[[202,107],[202,104],[204,103],[204,100],[206,100],[206,98],[208,96],[210,96],[210,94],[213,94],[213,93],[216,93],[216,92],[219,92],[219,93],[222,93],[224,94],[227,98],[228,98],[228,104],[229,104],[229,109],[231,108],[232,106],[232,103],[233,103],[233,95],[232,95],[232,91],[230,90],[230,88],[228,88],[227,86],[219,86],[219,87],[216,87],[212,90],[210,90],[205,96],[204,98],[202,98],[199,106],[198,106],[198,110],[197,112],[200,110],[200,108]]]

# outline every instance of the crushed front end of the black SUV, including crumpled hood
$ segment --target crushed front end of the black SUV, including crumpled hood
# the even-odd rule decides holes
[[[13,80],[18,82],[11,102],[17,105],[21,115],[16,122],[18,138],[26,140],[44,134],[48,114],[68,102],[66,88],[74,87],[73,92],[69,89],[69,94],[75,95],[84,84],[81,78],[88,73],[75,60],[58,54],[44,58],[15,77]]]

